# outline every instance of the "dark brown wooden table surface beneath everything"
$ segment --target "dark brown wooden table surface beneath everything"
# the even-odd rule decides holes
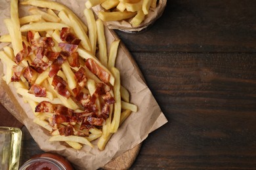
[[[168,0],[148,30],[116,33],[169,120],[131,169],[256,169],[256,1]],[[42,151],[22,132],[24,163]]]

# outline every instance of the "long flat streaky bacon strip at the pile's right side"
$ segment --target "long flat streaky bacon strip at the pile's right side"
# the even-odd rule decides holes
[[[110,74],[108,74],[104,69],[98,66],[93,59],[89,58],[85,61],[86,67],[93,72],[102,82],[108,83],[110,80]]]

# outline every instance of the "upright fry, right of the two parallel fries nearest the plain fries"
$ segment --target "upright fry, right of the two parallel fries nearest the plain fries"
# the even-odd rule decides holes
[[[99,60],[106,67],[108,65],[108,56],[107,56],[106,37],[105,37],[103,22],[101,20],[96,20],[96,27],[97,27]]]

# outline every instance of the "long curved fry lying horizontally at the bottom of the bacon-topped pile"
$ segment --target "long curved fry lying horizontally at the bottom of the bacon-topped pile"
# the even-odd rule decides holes
[[[93,144],[91,144],[85,137],[79,137],[79,136],[74,136],[74,135],[70,135],[70,136],[61,136],[61,135],[55,135],[49,138],[50,142],[53,141],[72,141],[72,142],[76,142],[76,143],[82,143],[82,144],[86,144],[88,146],[91,146],[93,148]]]

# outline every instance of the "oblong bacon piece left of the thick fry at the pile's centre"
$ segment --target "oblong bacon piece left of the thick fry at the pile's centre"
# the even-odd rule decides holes
[[[52,85],[54,86],[54,89],[57,90],[57,92],[63,97],[65,97],[66,99],[70,97],[70,92],[68,92],[68,90],[66,89],[67,83],[65,82],[65,80],[63,80],[62,77],[54,75]]]

